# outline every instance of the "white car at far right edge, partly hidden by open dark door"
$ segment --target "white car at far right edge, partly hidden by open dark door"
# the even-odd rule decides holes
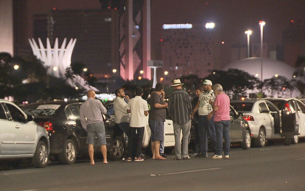
[[[296,125],[298,125],[298,135],[294,135],[292,143],[298,143],[298,138],[305,138],[305,104],[296,98],[265,98],[271,101],[279,110],[294,111],[296,115]]]

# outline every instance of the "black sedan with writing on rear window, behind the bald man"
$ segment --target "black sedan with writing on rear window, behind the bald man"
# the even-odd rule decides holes
[[[73,164],[76,157],[88,153],[87,132],[82,128],[79,101],[42,101],[24,105],[22,110],[34,116],[34,121],[44,127],[50,137],[50,156],[63,164]],[[103,116],[108,157],[120,160],[126,152],[126,135],[111,118]],[[94,148],[100,152],[100,146]]]

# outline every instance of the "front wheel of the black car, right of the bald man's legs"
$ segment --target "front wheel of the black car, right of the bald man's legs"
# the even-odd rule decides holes
[[[116,137],[112,144],[112,149],[109,151],[111,160],[121,160],[125,156],[126,145],[122,137]]]

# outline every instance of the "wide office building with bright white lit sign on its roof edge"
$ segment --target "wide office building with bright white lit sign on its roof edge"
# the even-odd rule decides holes
[[[183,75],[194,74],[199,78],[219,69],[222,42],[217,27],[206,28],[200,24],[163,25],[162,70],[164,83]],[[162,73],[164,72],[162,71]]]

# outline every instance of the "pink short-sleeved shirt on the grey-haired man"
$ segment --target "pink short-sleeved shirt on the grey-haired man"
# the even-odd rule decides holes
[[[218,94],[214,105],[218,106],[214,113],[214,121],[230,120],[230,98],[227,94]]]

